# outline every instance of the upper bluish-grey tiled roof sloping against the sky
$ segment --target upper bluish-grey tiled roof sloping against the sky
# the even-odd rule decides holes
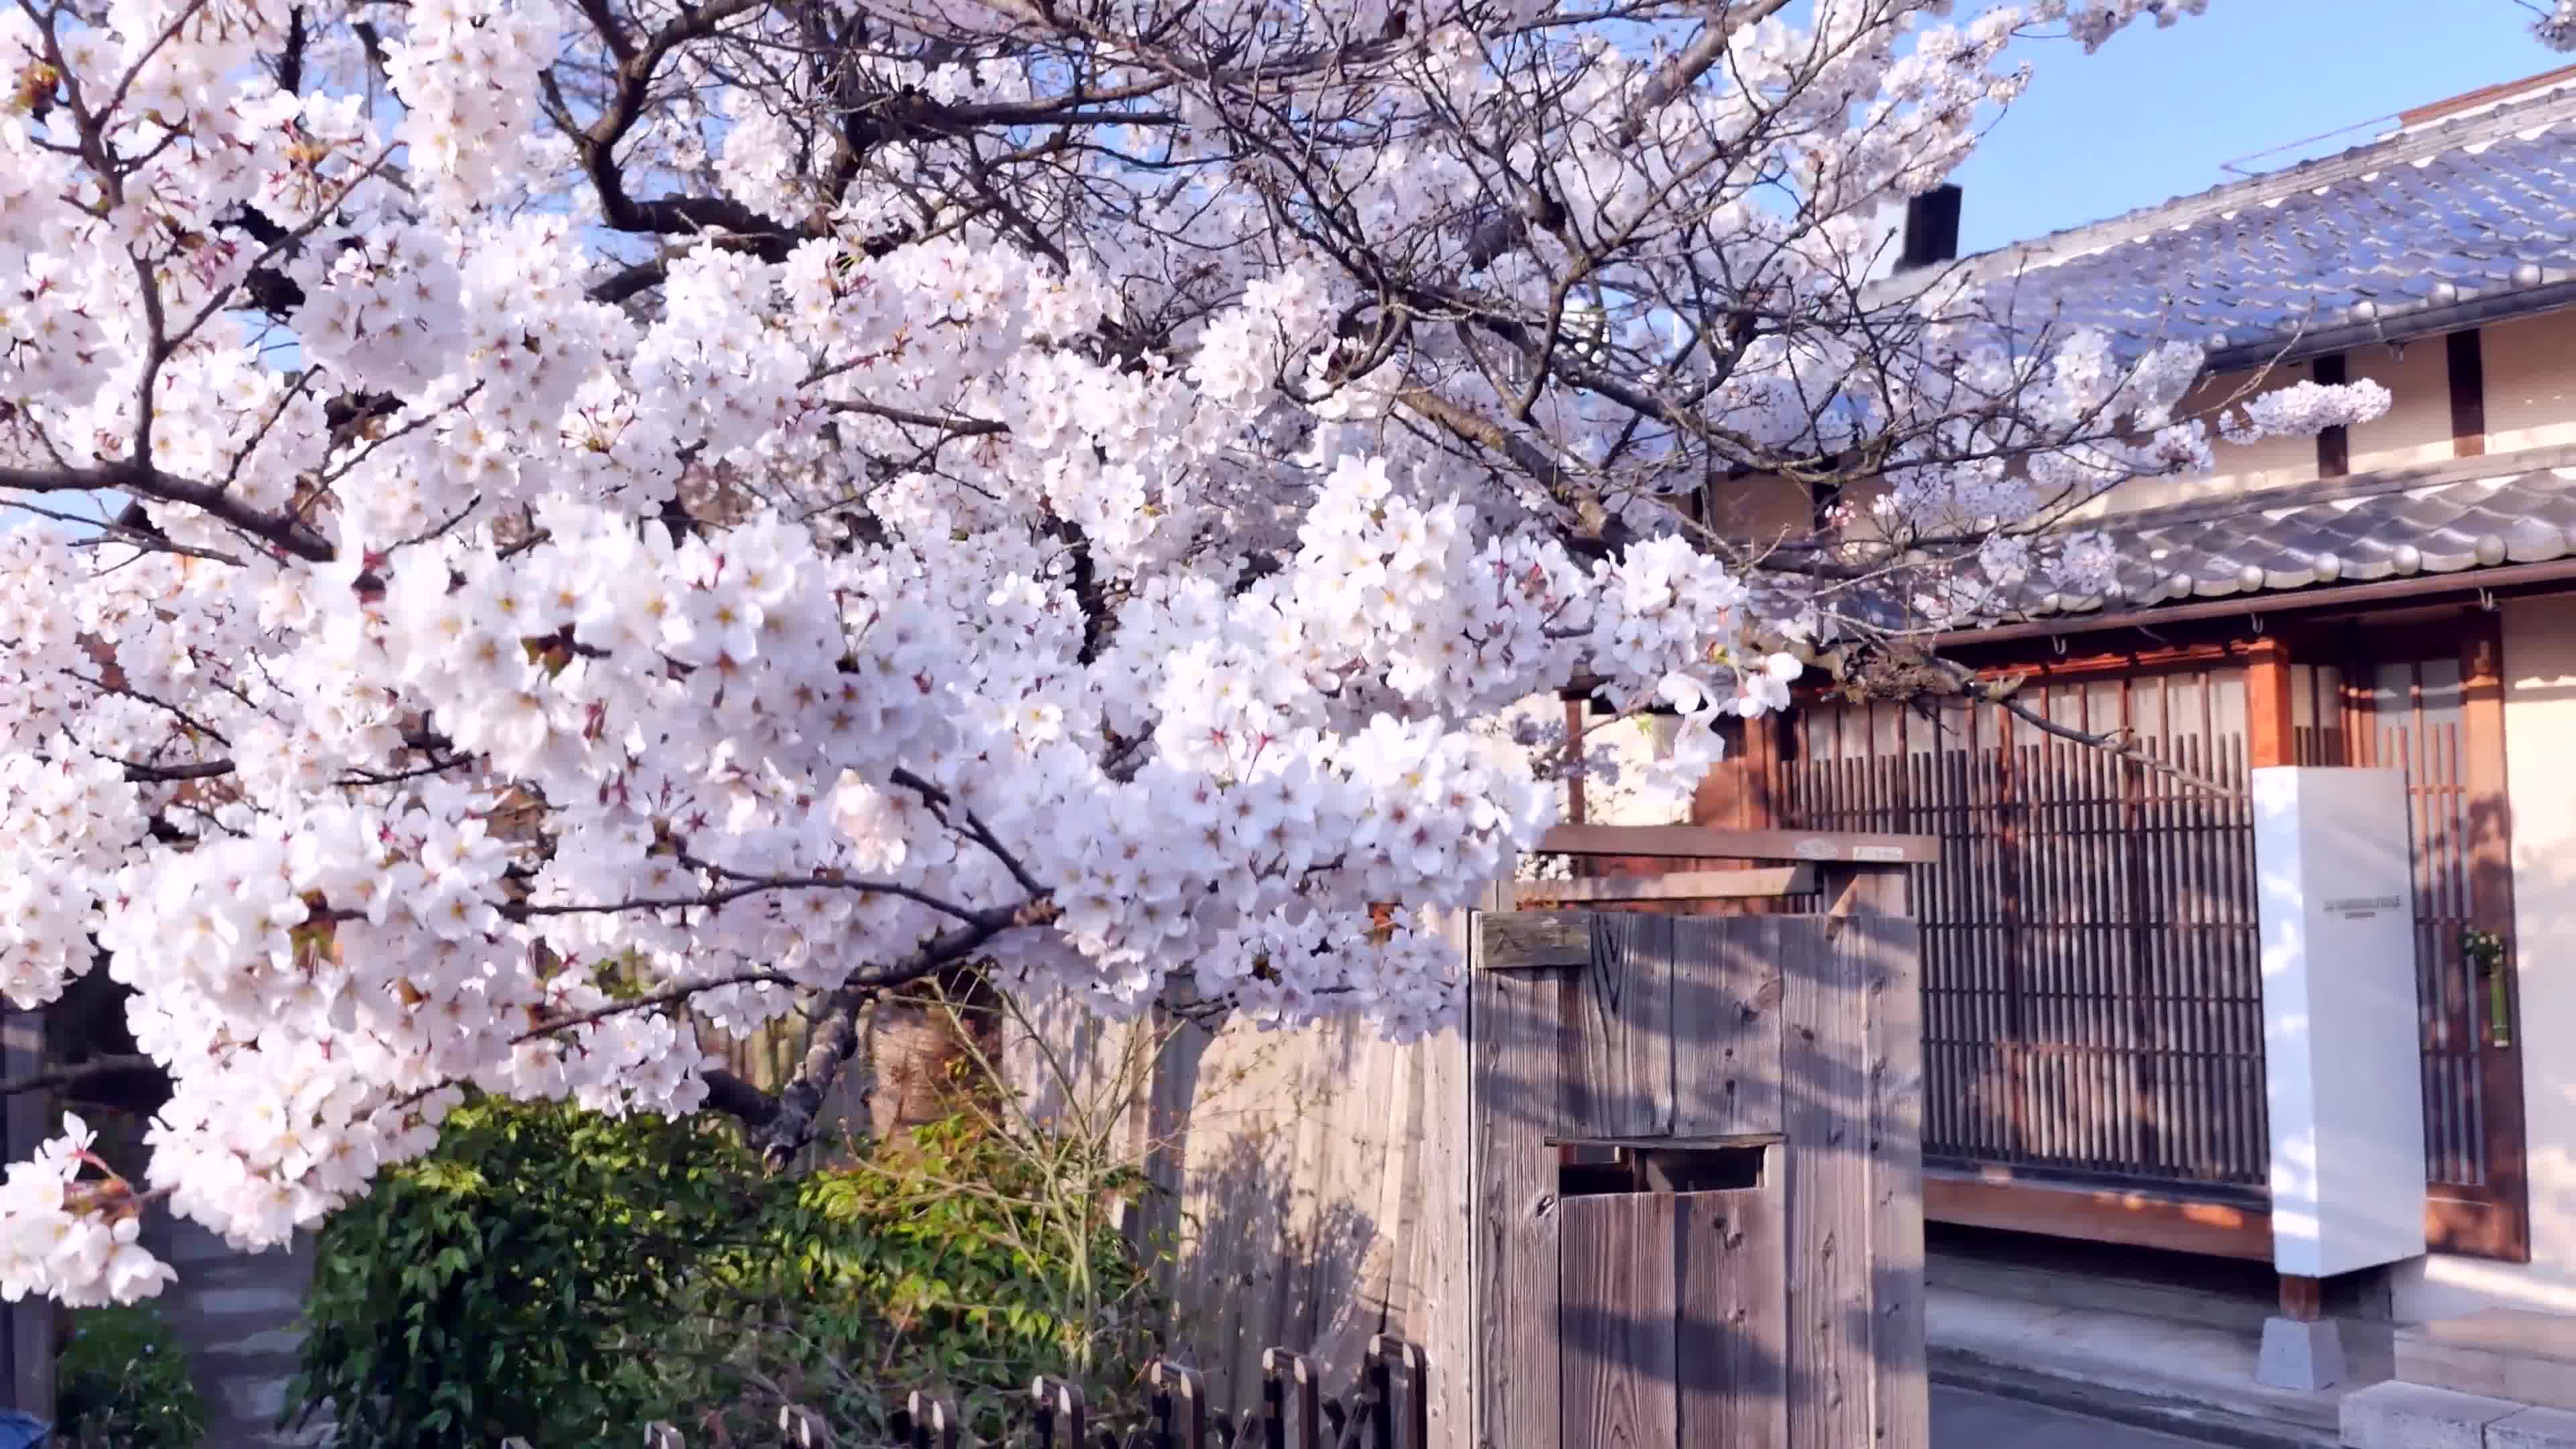
[[[1963,266],[2022,327],[2221,353],[2555,289],[2576,281],[2576,85]]]

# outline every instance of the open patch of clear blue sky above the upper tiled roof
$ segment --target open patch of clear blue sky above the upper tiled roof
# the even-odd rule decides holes
[[[1965,191],[1960,248],[2208,191],[2249,152],[2576,59],[2535,41],[2530,21],[2512,0],[2215,0],[2208,15],[2141,23],[2089,57],[2071,41],[2022,41],[2030,93],[1953,178]]]

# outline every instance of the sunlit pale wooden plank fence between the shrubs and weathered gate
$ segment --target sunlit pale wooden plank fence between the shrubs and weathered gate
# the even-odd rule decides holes
[[[1126,1235],[1170,1302],[1167,1351],[1208,1377],[1211,1413],[1260,1408],[1265,1343],[1306,1343],[1324,1382],[1347,1382],[1378,1333],[1455,1361],[1466,1204],[1432,1186],[1463,1181],[1468,1150],[1455,1031],[1394,1044],[1358,1021],[1018,1011],[1005,1075],[1028,1109],[1144,1165],[1151,1189]],[[1432,1395],[1443,1426],[1466,1423],[1455,1379]]]

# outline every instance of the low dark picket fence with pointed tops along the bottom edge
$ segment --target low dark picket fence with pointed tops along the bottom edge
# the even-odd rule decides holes
[[[1368,1343],[1358,1382],[1342,1395],[1321,1392],[1303,1354],[1262,1351],[1249,1385],[1252,1408],[1211,1408],[1208,1382],[1182,1364],[1157,1361],[1146,1372],[1146,1408],[1128,1423],[1092,1415],[1079,1387],[1038,1379],[1018,1405],[994,1449],[1430,1449],[1430,1359],[1401,1338]],[[837,1436],[804,1405],[778,1410],[778,1441],[793,1449],[961,1449],[987,1444],[963,1431],[956,1408],[914,1390],[894,1413],[891,1439]],[[647,1449],[688,1449],[672,1423],[644,1428]],[[528,1449],[505,1439],[502,1449]]]

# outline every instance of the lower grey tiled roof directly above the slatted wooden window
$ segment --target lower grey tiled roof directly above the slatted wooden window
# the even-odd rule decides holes
[[[2563,451],[2558,451],[2563,454]],[[2398,474],[2159,508],[2099,523],[2117,552],[2110,596],[2012,590],[1986,601],[1991,624],[2130,611],[2290,588],[2535,565],[2576,552],[2576,464],[2486,477]]]

